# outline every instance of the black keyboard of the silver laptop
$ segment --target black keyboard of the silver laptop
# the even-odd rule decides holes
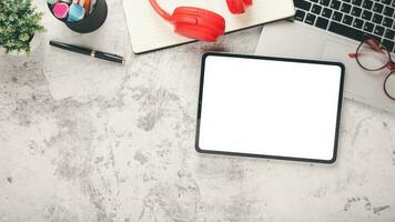
[[[362,41],[365,34],[395,53],[395,0],[294,0],[295,19]]]

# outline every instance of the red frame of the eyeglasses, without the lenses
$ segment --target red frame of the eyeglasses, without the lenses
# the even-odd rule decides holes
[[[367,69],[366,67],[364,67],[361,61],[358,60],[358,51],[361,49],[362,46],[364,46],[364,43],[367,43],[369,44],[377,53],[387,53],[388,56],[388,61],[381,68],[378,69]],[[382,47],[381,47],[382,46]],[[389,51],[386,49],[386,47],[384,44],[382,44],[381,42],[378,42],[376,39],[373,39],[373,38],[366,38],[365,40],[363,40],[358,48],[356,49],[356,52],[355,53],[350,53],[348,54],[350,58],[353,58],[353,59],[356,59],[356,62],[359,64],[359,67],[364,70],[367,70],[367,71],[379,71],[379,70],[383,70],[385,68],[388,68],[389,69],[389,73],[387,74],[387,77],[385,78],[384,80],[384,83],[383,83],[383,90],[384,90],[384,93],[392,100],[395,100],[395,97],[389,94],[389,92],[387,91],[387,88],[386,88],[386,84],[387,84],[387,81],[389,79],[389,77],[392,77],[393,74],[395,75],[395,62],[392,60],[391,58],[391,53]]]

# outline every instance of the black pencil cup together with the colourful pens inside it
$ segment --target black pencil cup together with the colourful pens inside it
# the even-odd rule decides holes
[[[108,14],[105,0],[47,0],[47,3],[57,19],[79,33],[95,31],[104,23]]]

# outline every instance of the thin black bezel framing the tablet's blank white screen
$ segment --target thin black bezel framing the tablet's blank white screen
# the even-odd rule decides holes
[[[334,138],[333,158],[331,160],[320,160],[320,159],[305,159],[305,158],[292,158],[292,157],[281,157],[281,155],[264,155],[264,154],[254,154],[254,153],[224,152],[224,151],[202,150],[202,149],[200,149],[199,135],[200,135],[200,123],[201,123],[202,101],[203,101],[205,60],[206,60],[207,57],[211,57],[211,56],[240,58],[240,59],[259,59],[259,60],[285,61],[285,62],[300,62],[300,63],[312,63],[312,64],[327,64],[327,65],[337,65],[337,67],[340,67],[342,69],[342,73],[341,73],[341,85],[340,85],[338,102],[337,102],[336,131],[335,131],[335,138]],[[200,77],[200,87],[199,87],[199,103],[198,103],[198,119],[196,119],[196,133],[195,133],[195,150],[199,153],[207,153],[207,154],[239,155],[239,157],[247,157],[247,158],[264,158],[264,159],[276,159],[276,160],[287,160],[287,161],[327,163],[327,164],[334,163],[336,161],[336,159],[337,159],[338,132],[340,132],[342,102],[343,102],[344,73],[345,73],[345,67],[341,62],[316,61],[316,60],[304,60],[304,59],[290,59],[290,58],[274,58],[274,57],[261,57],[261,56],[247,56],[247,54],[235,54],[235,53],[220,53],[220,52],[206,52],[206,53],[204,53],[202,56],[201,77]]]

